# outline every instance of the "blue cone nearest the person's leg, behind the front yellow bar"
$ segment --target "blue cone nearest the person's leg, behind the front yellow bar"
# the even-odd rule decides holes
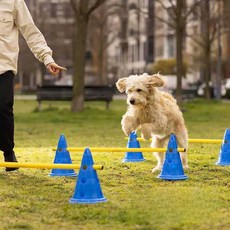
[[[67,143],[65,136],[61,135],[54,158],[54,164],[72,164],[70,154],[66,149]],[[52,169],[49,176],[77,176],[77,174],[73,169]]]

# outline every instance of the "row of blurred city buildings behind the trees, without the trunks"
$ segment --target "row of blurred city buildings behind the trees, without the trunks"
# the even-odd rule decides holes
[[[66,66],[68,72],[62,72],[58,81],[51,78],[43,64],[35,60],[21,39],[18,85],[23,86],[23,89],[35,89],[37,84],[72,84],[74,13],[70,1],[25,1],[48,45],[53,49],[56,62]],[[215,6],[212,7],[215,9],[213,15],[218,15],[219,1],[210,2]],[[175,59],[176,37],[175,28],[172,26],[172,3],[175,4],[176,1],[109,0],[97,9],[89,23],[86,84],[114,84],[118,78],[129,74],[153,72],[153,64],[159,60]],[[194,1],[187,0],[186,3],[189,9]],[[222,0],[221,15],[224,20],[221,26],[222,31],[225,31],[221,33],[223,77],[230,77],[229,11],[229,1]],[[212,18],[211,30],[216,26],[217,16],[215,17]],[[98,25],[96,21],[99,22]],[[186,78],[189,82],[202,81],[203,48],[196,41],[202,39],[204,30],[199,5],[191,11],[187,21],[183,46],[183,56],[188,67]],[[215,78],[217,37],[211,47],[212,78]]]

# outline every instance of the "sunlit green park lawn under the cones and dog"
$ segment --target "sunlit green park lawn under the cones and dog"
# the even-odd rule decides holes
[[[230,126],[230,103],[195,100],[186,103],[190,138],[222,139]],[[69,103],[15,102],[15,150],[20,162],[52,163],[60,134],[68,146],[125,147],[120,120],[124,101],[86,103],[73,114]],[[148,143],[141,143],[147,147]],[[189,179],[163,181],[150,173],[152,154],[143,163],[121,163],[124,153],[93,153],[108,202],[70,205],[76,179],[49,177],[49,170],[0,172],[0,229],[229,229],[230,167],[216,166],[219,145],[190,144]],[[81,154],[71,154],[80,163]],[[2,157],[2,156],[0,156]],[[3,160],[3,158],[2,158]]]

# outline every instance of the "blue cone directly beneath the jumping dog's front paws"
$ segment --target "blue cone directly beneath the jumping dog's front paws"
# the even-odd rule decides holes
[[[132,132],[129,136],[127,148],[140,148],[140,143],[137,140],[137,134]],[[122,162],[141,162],[145,161],[142,152],[126,152]]]

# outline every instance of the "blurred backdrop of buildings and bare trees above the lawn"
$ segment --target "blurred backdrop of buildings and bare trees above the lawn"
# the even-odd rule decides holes
[[[76,55],[83,52],[84,85],[114,85],[130,74],[160,72],[169,76],[169,91],[230,98],[229,0],[25,2],[55,61],[68,71],[50,76],[21,37],[19,93],[33,92],[37,85],[72,85]],[[84,4],[94,7],[87,12],[87,25],[79,24]],[[79,28],[84,26],[85,34]],[[86,49],[76,49],[82,39]]]

